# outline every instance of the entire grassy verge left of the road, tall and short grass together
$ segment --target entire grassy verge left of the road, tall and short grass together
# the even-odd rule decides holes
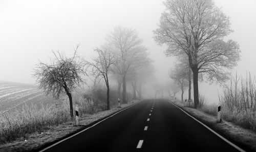
[[[63,101],[63,104],[44,106],[39,110],[35,106],[26,106],[24,111],[0,116],[0,123],[4,126],[0,125],[2,138],[0,151],[41,149],[139,101],[122,104],[122,108],[116,108],[117,106],[113,103],[111,110],[101,111],[101,108],[95,105],[96,101],[87,99],[84,94],[77,93],[74,99],[74,105],[79,106],[78,126],[70,119],[68,99]]]

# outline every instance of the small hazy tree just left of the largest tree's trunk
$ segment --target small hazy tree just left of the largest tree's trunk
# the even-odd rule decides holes
[[[181,89],[181,102],[183,102],[184,90],[188,87],[188,72],[186,64],[175,64],[175,69],[169,72],[170,78],[179,82]]]

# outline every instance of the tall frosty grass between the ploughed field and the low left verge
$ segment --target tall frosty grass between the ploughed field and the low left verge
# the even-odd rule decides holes
[[[91,100],[84,100],[82,95],[74,95],[74,105],[78,105],[81,115],[93,114],[96,107]],[[0,144],[13,141],[31,133],[40,133],[51,126],[64,122],[72,122],[69,110],[69,101],[66,99],[58,106],[56,104],[25,105],[22,109],[0,115]]]

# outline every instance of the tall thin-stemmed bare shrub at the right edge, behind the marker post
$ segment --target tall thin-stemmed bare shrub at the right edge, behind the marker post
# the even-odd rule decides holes
[[[255,78],[247,74],[232,78],[219,97],[222,104],[222,118],[256,132],[256,83]]]

